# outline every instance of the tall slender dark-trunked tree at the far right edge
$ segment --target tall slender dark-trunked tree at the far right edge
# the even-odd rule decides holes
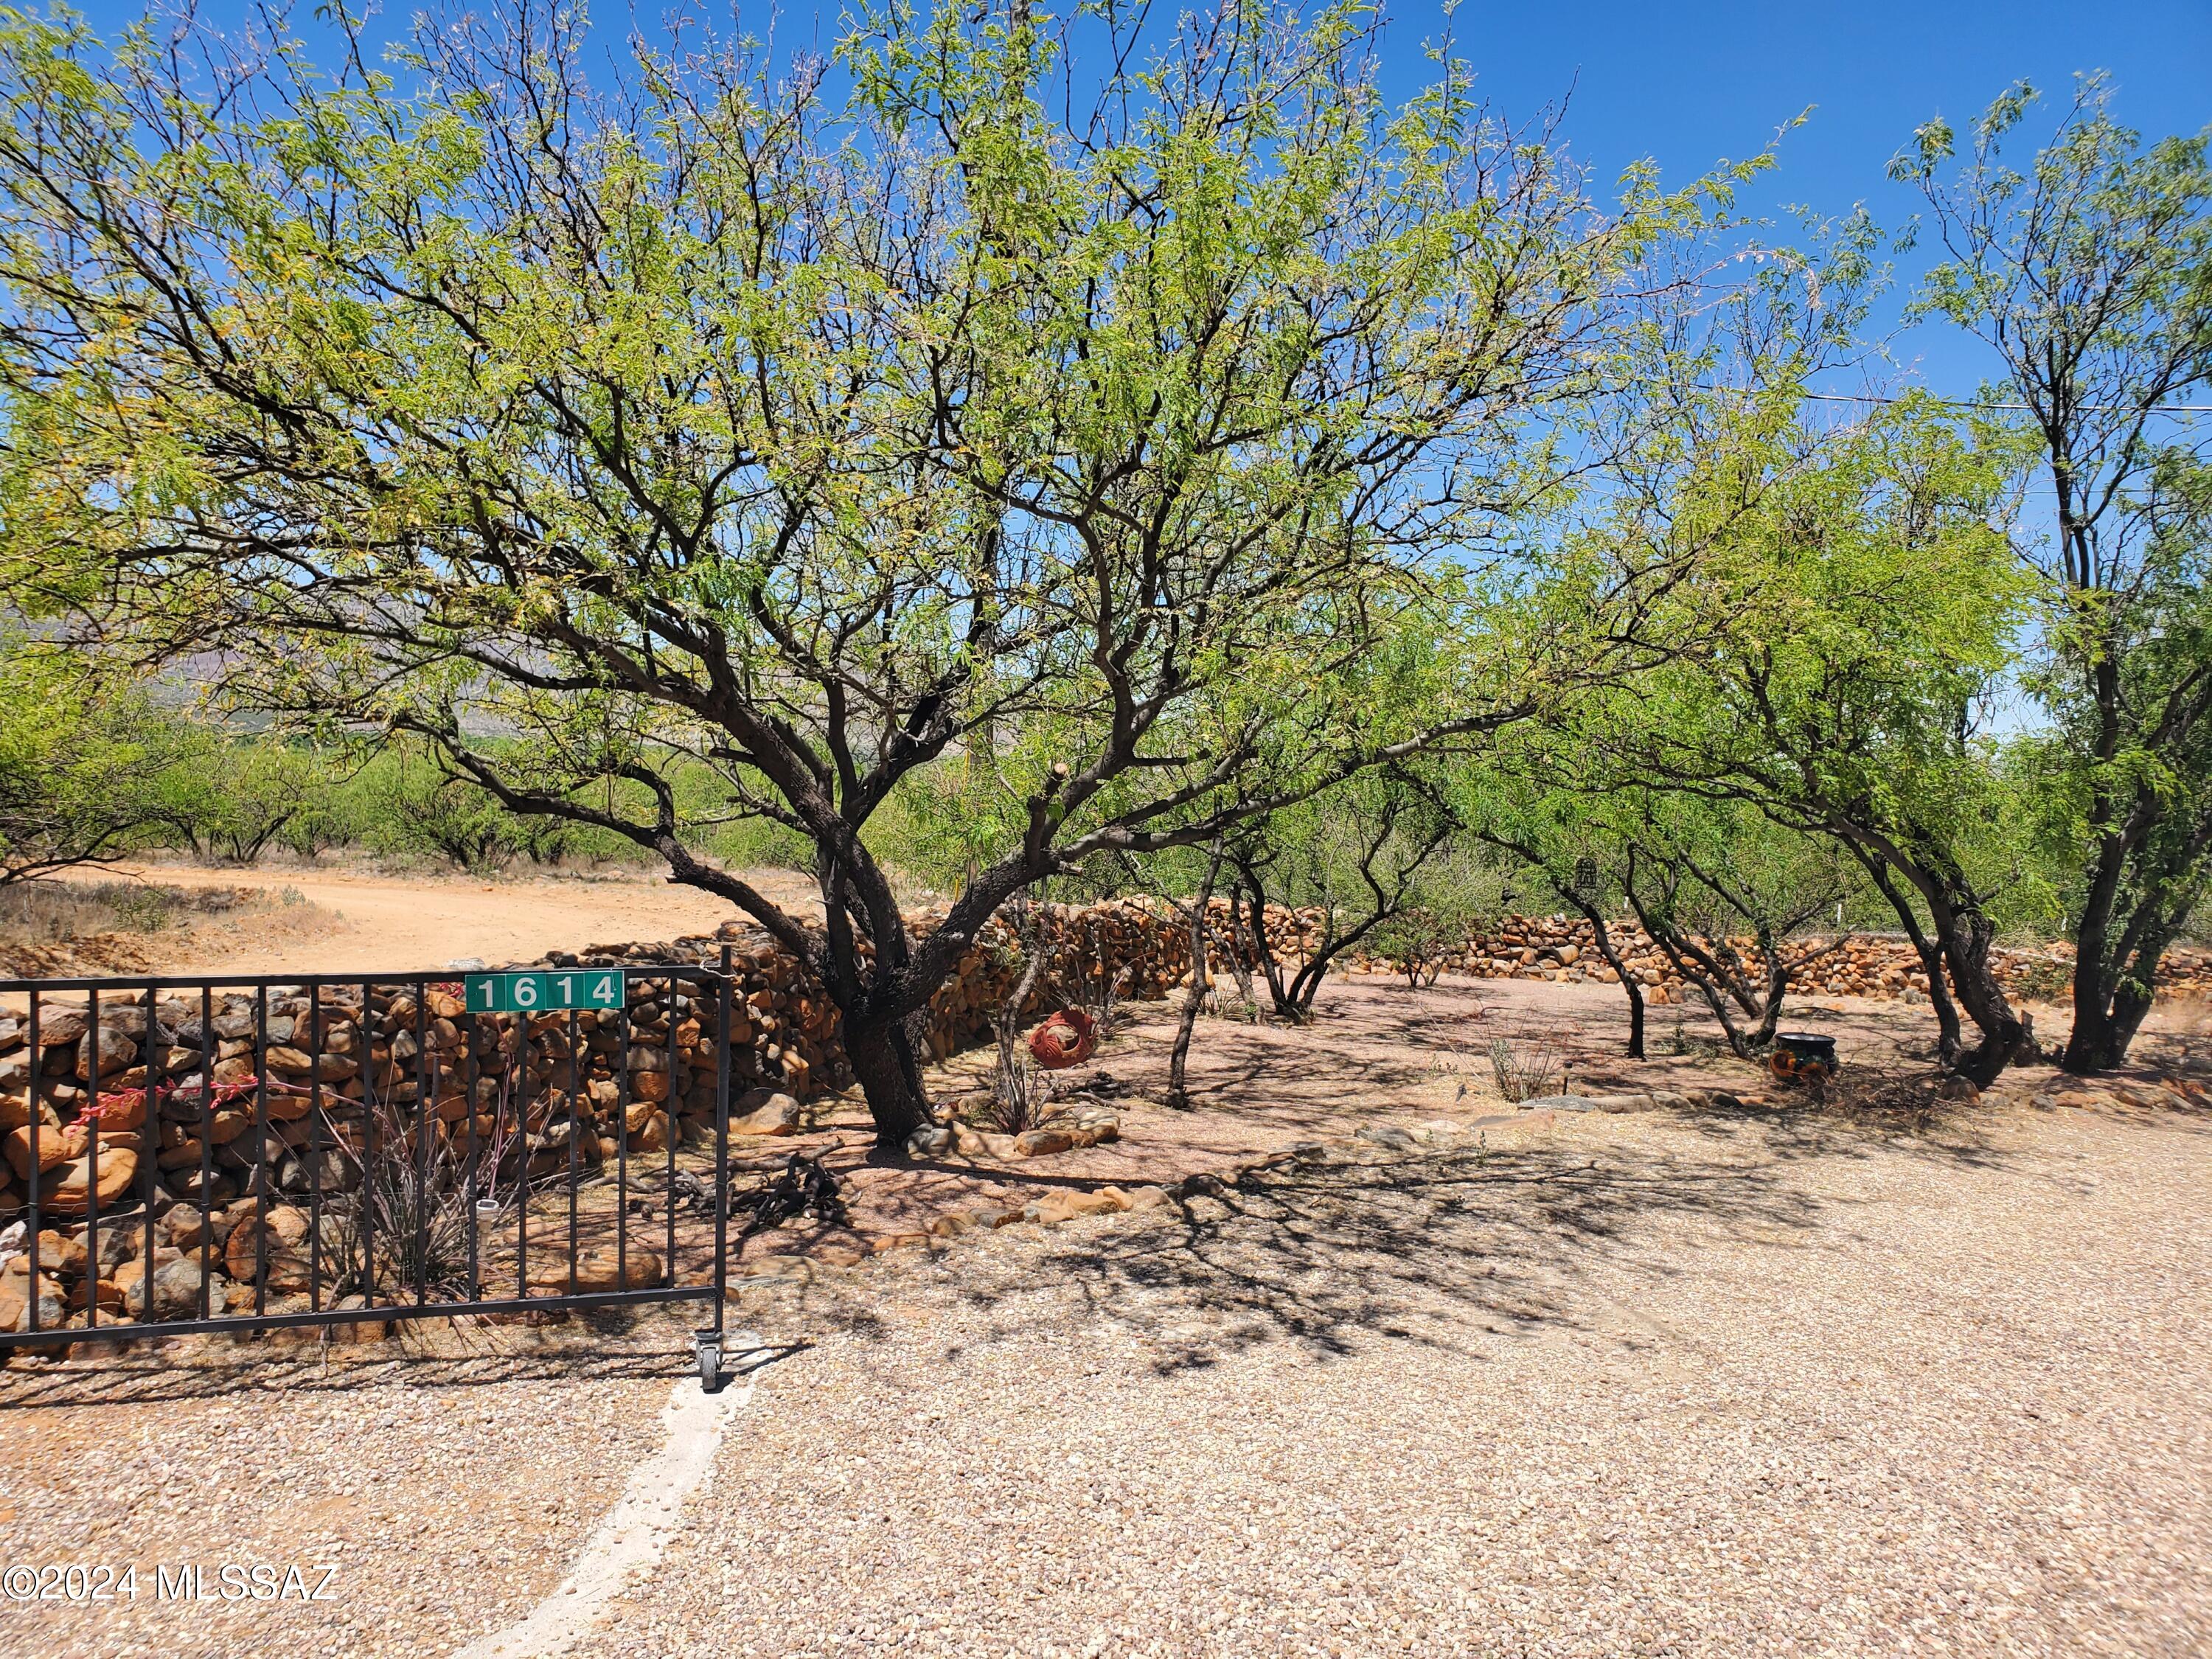
[[[1944,122],[1893,173],[1949,254],[1924,310],[2002,356],[2042,447],[2053,535],[2035,688],[2048,799],[2070,816],[2073,1035],[2104,1071],[2150,1011],[2159,956],[2212,880],[2212,164],[2205,135],[2143,148],[2086,80],[2024,168],[2004,161],[2022,84],[1955,157]]]

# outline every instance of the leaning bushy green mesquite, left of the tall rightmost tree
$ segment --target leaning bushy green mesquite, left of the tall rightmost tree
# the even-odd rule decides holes
[[[2017,436],[1913,396],[1816,420],[1796,314],[1743,323],[1752,394],[1708,387],[1701,354],[1650,356],[1659,414],[1584,538],[1663,586],[1652,661],[1595,688],[1557,754],[1584,787],[1832,838],[1942,958],[1982,1033],[1969,1053],[1938,973],[1944,1055],[1986,1084],[2024,1035],[1989,962],[2020,874],[1986,741],[2033,599],[2006,535]]]

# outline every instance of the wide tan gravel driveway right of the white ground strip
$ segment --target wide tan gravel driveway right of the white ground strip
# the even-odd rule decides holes
[[[2208,1128],[1573,1119],[825,1274],[591,1652],[2201,1655]]]

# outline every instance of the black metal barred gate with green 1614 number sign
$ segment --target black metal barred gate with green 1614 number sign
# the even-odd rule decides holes
[[[708,1301],[721,969],[0,982],[0,1352]]]

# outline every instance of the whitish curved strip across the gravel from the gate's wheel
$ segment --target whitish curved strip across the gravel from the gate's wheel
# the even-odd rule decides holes
[[[754,1347],[759,1338],[750,1332],[730,1332],[723,1367]],[[630,1471],[622,1498],[584,1540],[575,1571],[522,1619],[478,1637],[453,1659],[555,1659],[568,1652],[624,1584],[661,1559],[684,1502],[714,1467],[723,1429],[750,1400],[750,1376],[726,1383],[721,1394],[706,1394],[697,1376],[677,1383],[661,1407],[661,1449]]]

